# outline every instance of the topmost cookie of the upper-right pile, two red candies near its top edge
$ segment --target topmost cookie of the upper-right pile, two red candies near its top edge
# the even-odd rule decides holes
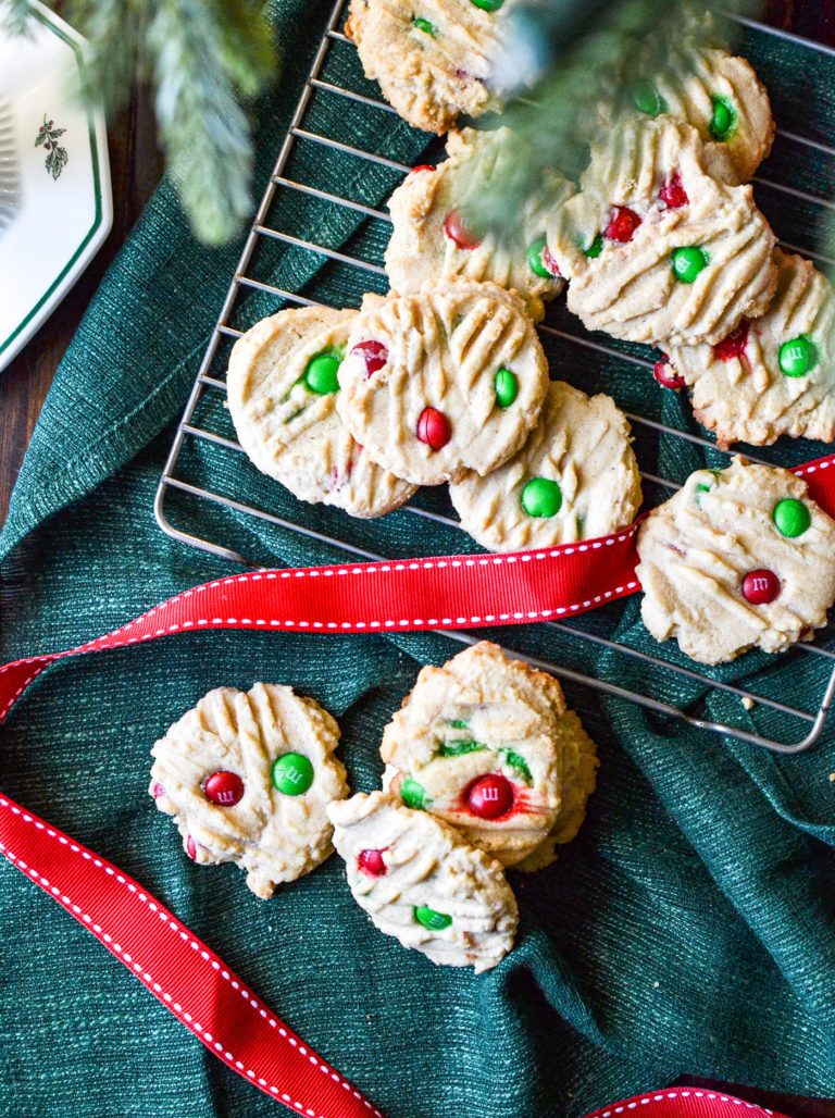
[[[592,146],[580,192],[548,227],[590,330],[629,341],[713,344],[774,294],[775,237],[750,187],[712,179],[694,129],[624,121]]]

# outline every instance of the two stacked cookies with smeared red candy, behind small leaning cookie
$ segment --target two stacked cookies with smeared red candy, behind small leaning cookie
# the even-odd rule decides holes
[[[575,836],[597,769],[557,680],[488,641],[420,672],[380,756],[386,789],[406,806],[523,870]]]

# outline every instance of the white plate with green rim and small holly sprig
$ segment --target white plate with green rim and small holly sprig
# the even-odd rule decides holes
[[[2,7],[0,0],[0,16]],[[86,82],[86,40],[38,0],[31,7],[29,36],[0,29],[0,105],[8,111],[0,127],[0,370],[113,225],[104,119],[77,94],[78,80]]]

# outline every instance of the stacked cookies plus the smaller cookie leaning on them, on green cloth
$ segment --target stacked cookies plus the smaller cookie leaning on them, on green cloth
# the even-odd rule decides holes
[[[354,899],[434,963],[494,967],[518,921],[504,870],[577,834],[595,743],[557,680],[482,641],[420,672],[380,755],[383,790],[329,807]]]

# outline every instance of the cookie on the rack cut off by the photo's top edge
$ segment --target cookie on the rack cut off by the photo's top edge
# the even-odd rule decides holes
[[[345,35],[366,77],[416,129],[447,132],[500,102],[490,78],[500,9],[514,0],[351,0]]]

